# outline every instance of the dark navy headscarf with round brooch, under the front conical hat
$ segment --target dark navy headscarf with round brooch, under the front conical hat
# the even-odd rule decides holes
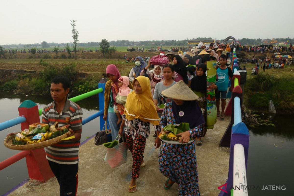
[[[184,101],[182,105],[177,105],[174,101],[171,103],[173,108],[173,116],[175,117],[176,123],[189,123],[190,129],[195,128],[198,125],[205,123],[202,111],[194,101]],[[183,116],[179,116],[179,112],[184,113]]]

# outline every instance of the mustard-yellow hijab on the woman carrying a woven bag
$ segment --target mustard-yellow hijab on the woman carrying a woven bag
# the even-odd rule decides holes
[[[159,125],[158,114],[153,103],[150,90],[150,80],[145,76],[138,76],[134,81],[138,81],[142,93],[136,94],[135,91],[128,94],[124,114],[126,119],[133,120],[138,118],[153,125]]]

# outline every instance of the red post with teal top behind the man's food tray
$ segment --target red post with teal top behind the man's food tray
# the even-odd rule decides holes
[[[28,129],[29,125],[40,122],[39,110],[36,103],[25,100],[19,106],[19,115],[24,115],[26,122],[21,123],[21,130]],[[30,150],[30,155],[26,156],[29,177],[34,180],[46,182],[54,176],[46,159],[44,148]]]

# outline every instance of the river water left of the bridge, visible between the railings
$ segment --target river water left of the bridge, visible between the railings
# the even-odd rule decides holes
[[[0,93],[0,123],[16,118],[19,116],[18,107],[24,101],[30,99],[37,103],[39,109],[43,108],[46,104],[52,101],[51,97],[38,97],[38,96],[13,96],[7,93]],[[99,110],[98,98],[86,98],[77,102],[83,110],[83,119],[97,113]],[[41,118],[40,118],[41,121]],[[85,125],[83,125],[81,141],[94,135],[99,129],[99,118],[96,118]],[[8,133],[21,131],[20,124],[15,125],[6,130],[0,131],[0,140],[3,141]],[[0,162],[15,155],[21,151],[11,150],[0,144]],[[0,171],[0,195],[5,194],[17,184],[28,178],[28,170],[26,168],[26,159],[23,158],[16,163],[6,167]]]

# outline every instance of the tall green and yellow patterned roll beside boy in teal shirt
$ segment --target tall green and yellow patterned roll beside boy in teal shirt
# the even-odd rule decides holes
[[[216,83],[216,60],[207,61],[207,76],[206,76],[206,126],[207,129],[213,129],[216,124],[216,92],[215,89],[210,90],[208,86],[211,83]]]

